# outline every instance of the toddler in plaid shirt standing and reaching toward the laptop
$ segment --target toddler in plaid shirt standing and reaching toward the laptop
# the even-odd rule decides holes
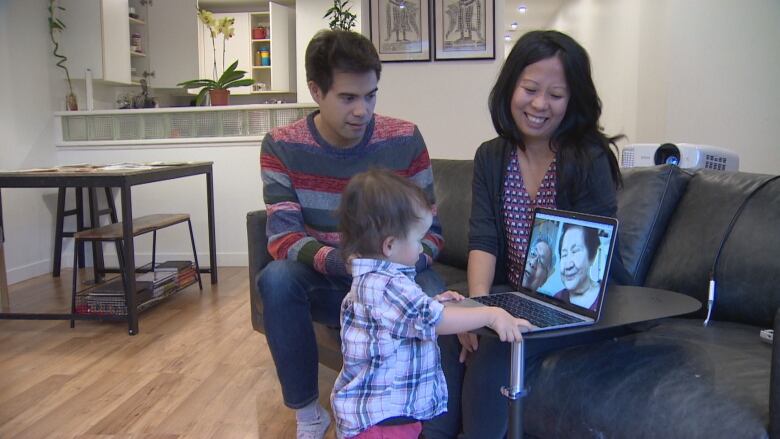
[[[431,204],[414,183],[387,170],[354,176],[341,198],[341,250],[352,288],[341,306],[344,366],[331,405],[339,437],[417,438],[421,421],[446,411],[447,384],[436,336],[482,326],[502,341],[530,328],[500,308],[445,307],[414,282]]]

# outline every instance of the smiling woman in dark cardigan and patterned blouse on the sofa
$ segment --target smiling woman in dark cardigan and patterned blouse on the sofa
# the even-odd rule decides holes
[[[517,290],[535,206],[615,217],[618,137],[599,127],[601,101],[585,49],[556,31],[523,35],[490,93],[498,137],[474,157],[469,223],[470,296]],[[622,271],[613,256],[613,277]],[[556,348],[527,343],[530,355]],[[554,343],[554,342],[553,342]],[[560,343],[560,342],[559,342]],[[510,346],[474,334],[440,337],[448,412],[424,427],[426,439],[504,437]]]

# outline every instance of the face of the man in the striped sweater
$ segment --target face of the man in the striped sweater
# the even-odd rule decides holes
[[[326,94],[309,82],[309,91],[320,107],[314,118],[323,138],[337,148],[351,148],[363,139],[374,116],[377,92],[376,72],[334,72],[333,85]]]

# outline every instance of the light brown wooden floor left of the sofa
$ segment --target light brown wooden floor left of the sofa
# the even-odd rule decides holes
[[[71,271],[11,285],[11,311],[68,312]],[[126,323],[0,321],[0,438],[293,438],[246,267]],[[320,368],[320,401],[336,372]],[[335,438],[331,427],[326,438]]]

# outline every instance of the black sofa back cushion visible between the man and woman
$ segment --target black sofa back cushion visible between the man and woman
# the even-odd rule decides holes
[[[471,160],[431,160],[439,220],[444,231],[444,249],[438,262],[466,269],[469,253],[471,212]]]

